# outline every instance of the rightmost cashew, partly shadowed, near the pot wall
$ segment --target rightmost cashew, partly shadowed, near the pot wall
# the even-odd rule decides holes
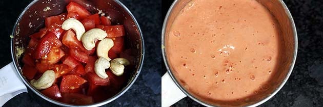
[[[130,65],[130,62],[125,58],[117,58],[111,61],[111,72],[117,76],[124,74],[125,66]]]

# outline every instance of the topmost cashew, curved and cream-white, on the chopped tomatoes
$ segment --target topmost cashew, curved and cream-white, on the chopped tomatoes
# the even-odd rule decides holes
[[[83,34],[85,33],[85,28],[81,22],[74,18],[69,18],[65,20],[62,24],[62,29],[69,30],[72,29],[76,33],[77,40],[81,40]]]

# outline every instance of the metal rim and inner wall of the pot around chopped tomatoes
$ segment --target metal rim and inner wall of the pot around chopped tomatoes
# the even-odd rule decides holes
[[[131,77],[128,83],[124,86],[122,91],[114,95],[113,97],[90,105],[73,105],[62,103],[56,100],[52,100],[47,96],[40,93],[38,90],[31,87],[27,79],[22,75],[21,68],[23,64],[21,63],[21,57],[17,56],[17,48],[25,48],[29,42],[29,35],[36,33],[39,29],[44,28],[45,18],[48,16],[54,16],[66,12],[66,5],[70,2],[76,2],[84,7],[86,7],[91,13],[105,13],[112,20],[112,24],[124,24],[126,31],[125,46],[126,48],[131,48],[132,55],[135,56],[135,64],[133,64],[130,69],[132,71]],[[48,8],[47,8],[48,7]],[[132,13],[124,6],[121,2],[117,0],[35,0],[32,1],[25,10],[18,17],[13,31],[11,40],[11,54],[12,60],[15,68],[22,78],[26,86],[31,89],[38,96],[44,98],[45,100],[55,103],[61,106],[100,106],[107,104],[114,99],[118,98],[124,94],[135,82],[138,77],[140,70],[142,69],[144,61],[144,40],[142,31],[139,28],[139,24],[135,20]]]

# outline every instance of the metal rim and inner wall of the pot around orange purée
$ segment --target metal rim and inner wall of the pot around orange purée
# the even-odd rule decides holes
[[[268,87],[264,89],[258,94],[251,96],[248,100],[243,101],[215,101],[215,102],[204,102],[203,100],[197,98],[196,96],[190,94],[184,87],[181,86],[181,83],[176,79],[174,76],[175,73],[172,72],[172,66],[169,65],[167,59],[167,40],[169,30],[172,26],[173,21],[175,20],[177,14],[180,12],[184,6],[192,0],[176,0],[173,2],[172,6],[170,7],[168,14],[164,20],[163,31],[162,31],[162,38],[161,44],[165,46],[162,49],[164,62],[168,73],[171,75],[175,84],[191,99],[197,101],[200,104],[206,106],[257,106],[260,105],[271,97],[273,97],[287,82],[290,74],[292,73],[296,56],[297,56],[297,32],[295,28],[295,24],[293,18],[281,0],[257,0],[259,3],[263,4],[268,10],[272,13],[272,15],[277,19],[280,27],[280,39],[281,39],[281,48],[279,49],[280,57],[280,64],[276,68],[278,73],[273,74],[271,77],[271,82],[267,85]]]

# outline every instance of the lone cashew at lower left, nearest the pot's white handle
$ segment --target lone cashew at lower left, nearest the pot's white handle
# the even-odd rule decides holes
[[[32,79],[30,84],[38,90],[47,89],[54,84],[55,72],[53,70],[47,70],[43,73],[42,77],[35,80]]]

